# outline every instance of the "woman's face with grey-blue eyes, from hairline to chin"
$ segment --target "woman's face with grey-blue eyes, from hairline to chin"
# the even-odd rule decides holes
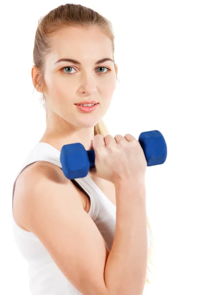
[[[96,64],[100,59],[113,59],[111,40],[97,27],[69,27],[51,40],[44,76],[49,115],[78,127],[96,125],[107,112],[116,88],[117,65],[110,60]],[[75,59],[80,64],[59,59]],[[83,113],[75,105],[91,100],[99,103],[91,113]]]

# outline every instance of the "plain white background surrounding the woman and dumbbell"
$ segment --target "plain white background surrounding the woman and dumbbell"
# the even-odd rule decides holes
[[[65,1],[5,1],[0,17],[0,294],[29,295],[12,232],[14,177],[46,127],[33,91],[38,19]],[[146,172],[155,238],[148,295],[210,294],[210,4],[204,0],[74,1],[113,24],[117,89],[110,134],[159,130],[168,156]]]

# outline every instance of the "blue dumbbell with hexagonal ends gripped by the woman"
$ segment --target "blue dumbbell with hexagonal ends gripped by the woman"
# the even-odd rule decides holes
[[[144,151],[147,166],[165,162],[167,146],[159,131],[142,132],[138,142]],[[95,152],[94,149],[86,150],[80,143],[65,145],[61,148],[60,162],[63,173],[68,179],[86,177],[90,167],[95,166]]]

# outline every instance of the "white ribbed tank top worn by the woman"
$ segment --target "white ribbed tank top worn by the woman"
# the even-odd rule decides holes
[[[22,168],[15,177],[13,196],[17,177],[27,166],[36,161],[47,161],[62,168],[60,151],[47,143],[38,143],[30,151]],[[95,222],[110,251],[115,233],[116,206],[105,196],[89,175],[83,178],[72,179],[72,181],[90,199],[88,215]],[[12,220],[15,242],[21,255],[28,263],[29,289],[31,294],[82,295],[54,263],[52,257],[38,237],[31,232],[21,229],[16,224],[13,217],[13,210]],[[150,235],[148,230],[147,234],[149,247]]]

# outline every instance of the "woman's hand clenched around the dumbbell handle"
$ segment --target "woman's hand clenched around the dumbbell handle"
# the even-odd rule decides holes
[[[91,141],[95,152],[95,167],[90,172],[112,183],[121,179],[144,179],[147,161],[139,142],[131,135],[103,137],[96,134]]]

